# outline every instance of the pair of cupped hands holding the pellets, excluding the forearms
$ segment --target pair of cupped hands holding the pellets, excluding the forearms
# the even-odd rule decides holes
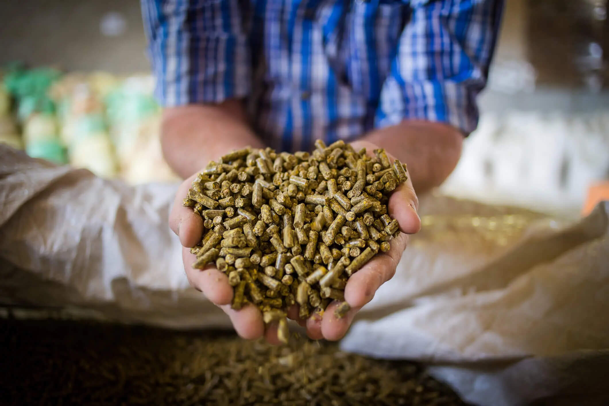
[[[368,153],[372,153],[374,149],[378,148],[366,141],[356,141],[352,145],[356,150],[365,147]],[[390,156],[390,159],[393,161],[392,156]],[[195,177],[196,174],[192,175],[180,185],[169,215],[169,226],[178,235],[183,246],[182,259],[188,281],[192,287],[202,292],[209,301],[227,313],[240,337],[255,339],[264,336],[270,343],[279,343],[276,326],[267,326],[265,329],[262,313],[257,307],[247,304],[241,310],[231,308],[233,287],[228,283],[227,275],[217,270],[213,265],[208,265],[203,270],[192,268],[196,256],[191,254],[190,248],[197,245],[201,240],[203,219],[199,214],[192,211],[192,208],[184,207],[182,200],[186,197]],[[347,312],[345,317],[336,318],[334,315],[334,309],[338,306],[337,302],[329,304],[322,318],[313,315],[306,321],[300,320],[297,306],[292,306],[289,309],[288,317],[296,320],[301,326],[305,326],[308,336],[315,340],[322,338],[339,340],[342,338],[356,312],[370,302],[376,290],[395,274],[396,266],[406,249],[407,234],[415,234],[421,228],[417,209],[417,195],[409,178],[393,191],[388,205],[389,215],[398,220],[401,233],[390,241],[391,248],[389,251],[386,253],[379,251],[370,262],[348,279],[345,287],[345,301],[350,304],[351,310]]]

